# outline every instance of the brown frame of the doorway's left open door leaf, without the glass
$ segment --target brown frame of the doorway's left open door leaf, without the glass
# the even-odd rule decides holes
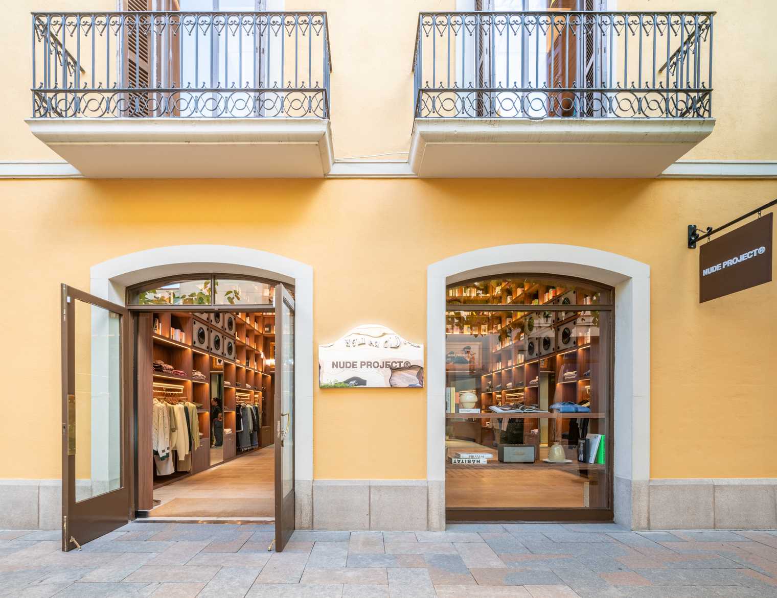
[[[120,344],[120,487],[111,492],[75,500],[75,301],[96,305],[121,317]],[[131,375],[133,339],[131,318],[126,308],[61,285],[62,353],[62,550],[79,548],[134,519],[134,451],[130,430],[134,429],[134,377]]]

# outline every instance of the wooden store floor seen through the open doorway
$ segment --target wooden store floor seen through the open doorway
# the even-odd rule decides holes
[[[150,517],[274,517],[274,447],[155,488]]]

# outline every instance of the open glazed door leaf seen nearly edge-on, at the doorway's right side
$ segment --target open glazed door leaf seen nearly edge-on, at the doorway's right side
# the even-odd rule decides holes
[[[294,533],[294,298],[275,287],[275,549]]]

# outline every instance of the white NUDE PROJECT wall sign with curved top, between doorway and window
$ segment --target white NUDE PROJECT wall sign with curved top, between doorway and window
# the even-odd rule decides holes
[[[320,388],[423,387],[423,345],[379,324],[319,345]]]

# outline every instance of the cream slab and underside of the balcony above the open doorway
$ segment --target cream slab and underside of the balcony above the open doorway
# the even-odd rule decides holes
[[[96,179],[317,178],[333,163],[320,118],[28,119],[32,133]]]

